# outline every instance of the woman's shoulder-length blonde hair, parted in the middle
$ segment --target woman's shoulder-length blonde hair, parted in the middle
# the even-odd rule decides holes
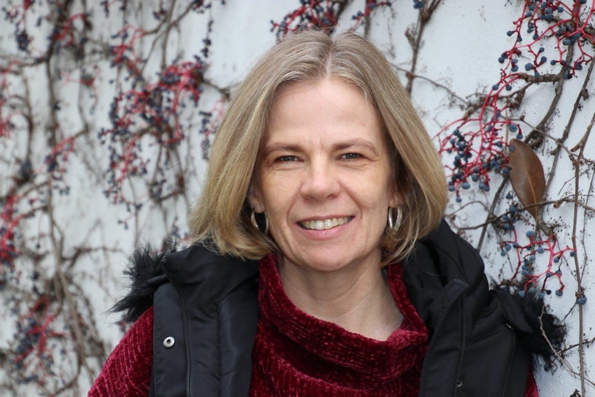
[[[191,210],[194,242],[223,254],[259,259],[275,243],[251,224],[246,195],[253,183],[269,111],[282,84],[340,78],[358,86],[378,111],[393,162],[400,227],[387,227],[383,263],[401,260],[436,229],[447,203],[440,157],[391,65],[354,33],[289,35],[266,52],[237,88],[217,130],[202,193]]]

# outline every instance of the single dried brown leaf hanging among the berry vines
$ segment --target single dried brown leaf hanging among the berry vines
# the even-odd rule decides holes
[[[510,182],[518,200],[538,221],[539,208],[534,205],[543,200],[545,175],[539,157],[525,142],[511,139]],[[514,148],[514,150],[513,150]]]

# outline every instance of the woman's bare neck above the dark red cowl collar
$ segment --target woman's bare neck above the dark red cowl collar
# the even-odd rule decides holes
[[[400,326],[402,315],[379,265],[321,272],[279,263],[286,295],[310,316],[375,340],[387,340]]]

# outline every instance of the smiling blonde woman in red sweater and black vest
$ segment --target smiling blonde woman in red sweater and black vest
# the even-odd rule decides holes
[[[217,131],[196,244],[136,256],[117,305],[135,324],[89,395],[537,396],[539,323],[489,291],[446,202],[382,54],[350,33],[284,39]]]

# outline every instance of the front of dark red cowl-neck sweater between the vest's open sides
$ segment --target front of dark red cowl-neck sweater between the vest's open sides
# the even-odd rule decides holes
[[[295,307],[282,287],[277,256],[260,260],[260,318],[250,396],[416,396],[428,332],[407,296],[402,266],[389,288],[403,316],[387,340],[373,340]]]

